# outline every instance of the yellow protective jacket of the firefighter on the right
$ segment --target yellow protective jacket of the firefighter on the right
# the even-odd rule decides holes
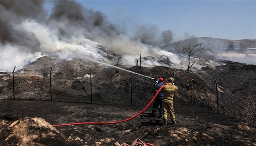
[[[163,101],[173,101],[173,93],[177,90],[177,86],[172,85],[171,83],[166,84],[161,90],[164,92]]]

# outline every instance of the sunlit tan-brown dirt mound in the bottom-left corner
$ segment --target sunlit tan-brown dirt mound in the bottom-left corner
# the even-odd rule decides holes
[[[42,118],[0,121],[1,146],[77,146]]]

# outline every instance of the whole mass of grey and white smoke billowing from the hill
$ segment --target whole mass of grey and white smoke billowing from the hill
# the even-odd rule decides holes
[[[43,2],[0,1],[0,71],[11,71],[15,65],[16,69],[21,69],[43,55],[57,55],[60,59],[92,57],[104,60],[97,53],[97,45],[123,55],[123,63],[136,61],[133,57],[140,53],[144,56],[176,56],[157,49],[157,45],[166,45],[172,40],[171,30],[160,35],[156,34],[159,33],[157,27],[155,30],[149,28],[150,32],[144,29],[131,39],[125,35],[122,26],[108,22],[101,11],[86,9],[72,0],[58,0],[48,15]],[[81,45],[80,42],[84,43]]]

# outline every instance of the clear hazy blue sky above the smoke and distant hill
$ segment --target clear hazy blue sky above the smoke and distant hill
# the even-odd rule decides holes
[[[47,0],[50,11],[54,0]],[[75,0],[101,11],[107,20],[132,34],[136,25],[171,30],[174,40],[186,35],[229,40],[256,39],[256,0]]]

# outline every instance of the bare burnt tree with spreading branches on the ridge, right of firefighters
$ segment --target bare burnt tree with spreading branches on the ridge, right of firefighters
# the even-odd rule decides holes
[[[195,60],[193,61],[192,65],[190,65],[190,56],[193,55],[195,52],[197,52],[198,50],[200,51],[211,51],[213,52],[213,50],[206,48],[207,45],[209,45],[210,43],[203,45],[203,43],[200,44],[196,44],[196,45],[184,45],[183,48],[183,52],[187,52],[188,53],[188,65],[187,65],[187,71],[190,70],[190,68],[192,67],[192,65],[195,63]]]

